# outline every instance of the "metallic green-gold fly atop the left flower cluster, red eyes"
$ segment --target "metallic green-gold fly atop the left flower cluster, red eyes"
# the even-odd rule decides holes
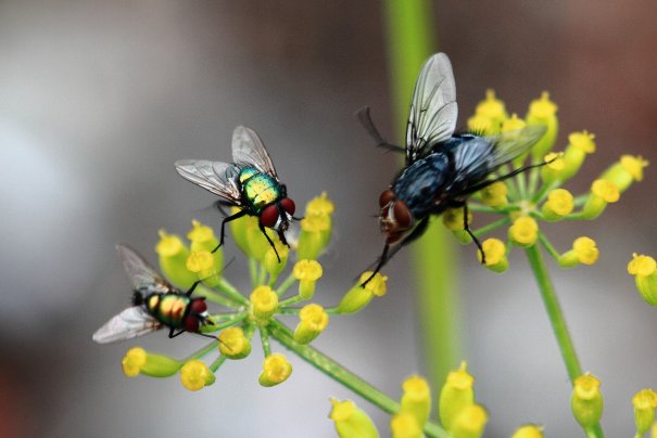
[[[238,212],[222,221],[222,236],[217,250],[224,244],[224,227],[242,216],[255,216],[267,242],[280,257],[271,239],[265,232],[270,228],[280,241],[290,246],[285,232],[293,217],[294,202],[288,197],[286,185],[280,182],[267,150],[257,134],[245,126],[232,132],[232,159],[235,163],[210,162],[206,159],[181,159],[176,170],[182,178],[222,197],[223,204],[240,208]],[[214,253],[213,250],[213,253]]]

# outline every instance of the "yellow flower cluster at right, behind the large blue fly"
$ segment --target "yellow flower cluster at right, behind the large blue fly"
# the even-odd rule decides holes
[[[597,218],[608,204],[618,202],[620,194],[634,181],[643,179],[647,162],[640,156],[622,155],[620,159],[592,181],[587,193],[573,195],[563,185],[577,175],[589,154],[595,152],[595,136],[587,131],[572,132],[561,152],[553,152],[558,132],[557,105],[544,92],[529,105],[526,117],[508,115],[504,102],[492,90],[479,103],[468,119],[468,128],[487,136],[513,136],[526,126],[545,127],[545,134],[510,165],[498,169],[500,177],[527,167],[513,178],[497,181],[477,193],[468,203],[470,211],[502,215],[502,218],[475,230],[477,237],[507,227],[506,242],[488,239],[482,242],[485,267],[494,272],[508,269],[508,253],[513,246],[530,248],[540,243],[564,268],[593,265],[599,250],[593,239],[574,239],[572,247],[559,253],[541,231],[540,222],[591,220]],[[528,163],[529,162],[529,163]],[[472,217],[467,218],[468,223]],[[446,211],[443,223],[456,237],[467,243],[470,236],[463,230],[463,210]],[[481,254],[478,253],[481,260]]]

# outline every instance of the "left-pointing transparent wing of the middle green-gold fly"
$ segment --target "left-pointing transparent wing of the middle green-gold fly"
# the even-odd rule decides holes
[[[186,180],[222,196],[231,204],[241,205],[237,177],[240,169],[231,164],[207,159],[180,159],[176,171]]]

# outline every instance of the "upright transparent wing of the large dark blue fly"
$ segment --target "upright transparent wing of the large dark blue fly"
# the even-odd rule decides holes
[[[406,127],[406,164],[454,133],[458,107],[452,63],[444,53],[429,57],[415,82]]]

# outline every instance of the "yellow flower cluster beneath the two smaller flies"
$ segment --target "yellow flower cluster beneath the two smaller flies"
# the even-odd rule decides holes
[[[201,280],[202,285],[194,289],[194,294],[229,311],[209,314],[207,323],[200,326],[200,332],[218,333],[217,340],[186,360],[131,348],[122,362],[125,375],[168,377],[178,373],[185,388],[199,390],[215,382],[215,373],[226,360],[247,358],[251,353],[253,335],[258,332],[265,356],[260,384],[269,387],[285,382],[292,373],[292,365],[285,355],[273,352],[270,338],[288,348],[301,348],[326,330],[329,314],[356,312],[372,296],[386,293],[386,278],[377,274],[366,288],[356,283],[337,307],[325,309],[316,302],[305,304],[313,298],[317,281],[323,275],[317,257],[329,243],[333,209],[333,203],[326,193],[312,199],[301,221],[299,240],[291,249],[267,230],[275,250],[262,234],[255,217],[244,216],[231,221],[231,235],[249,258],[252,286],[249,294],[241,293],[223,275],[223,253],[220,249],[213,253],[218,241],[210,227],[192,221],[192,229],[187,234],[189,245],[178,235],[161,230],[155,250],[160,269],[167,280],[181,291]],[[287,278],[279,281],[291,254],[295,254],[298,260]],[[294,283],[298,284],[296,293],[288,296]],[[282,324],[278,320],[280,315],[296,315],[295,328],[291,331]],[[206,364],[202,359],[213,351],[218,351],[218,356]]]

